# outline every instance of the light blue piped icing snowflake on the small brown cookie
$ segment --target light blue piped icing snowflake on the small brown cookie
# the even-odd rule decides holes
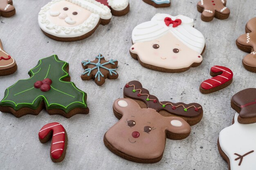
[[[86,65],[88,65],[88,64],[95,65],[95,67],[93,67],[93,68],[86,68],[86,69],[85,69],[85,72],[83,72],[82,75],[87,74],[87,76],[90,76],[90,73],[91,73],[94,69],[98,69],[98,72],[96,73],[96,75],[95,75],[94,78],[96,79],[96,78],[98,77],[98,81],[100,81],[100,80],[101,80],[101,77],[104,77],[104,75],[103,75],[103,74],[101,73],[101,71],[100,71],[100,68],[103,68],[103,69],[108,70],[110,75],[113,75],[113,74],[117,75],[117,72],[115,72],[116,69],[107,68],[107,67],[104,66],[104,65],[106,65],[106,64],[113,64],[113,65],[115,65],[115,62],[117,62],[117,60],[112,60],[112,59],[110,59],[108,62],[105,62],[105,63],[102,63],[102,64],[101,64],[101,63],[100,63],[100,62],[101,62],[101,59],[104,58],[104,56],[101,55],[101,53],[99,53],[99,55],[96,56],[95,58],[98,59],[98,62],[97,62],[97,63],[93,63],[93,62],[91,62],[90,60],[88,60],[88,61],[83,61],[83,62],[82,62],[83,66],[86,66]]]

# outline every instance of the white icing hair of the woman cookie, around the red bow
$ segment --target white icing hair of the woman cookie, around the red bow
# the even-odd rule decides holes
[[[164,18],[172,20],[180,19],[182,24],[173,27],[167,26]],[[162,37],[166,33],[172,33],[177,39],[190,49],[202,53],[205,46],[204,35],[193,27],[194,20],[184,15],[171,16],[164,13],[156,14],[150,21],[137,25],[132,31],[132,42],[146,42]]]

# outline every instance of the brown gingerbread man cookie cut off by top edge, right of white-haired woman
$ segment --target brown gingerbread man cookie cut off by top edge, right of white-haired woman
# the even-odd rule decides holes
[[[197,4],[198,11],[202,13],[201,19],[205,22],[218,18],[229,18],[230,10],[226,7],[227,0],[200,0]]]

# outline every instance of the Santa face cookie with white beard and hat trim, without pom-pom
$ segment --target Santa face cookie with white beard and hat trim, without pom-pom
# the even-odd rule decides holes
[[[108,24],[110,9],[95,0],[52,0],[38,14],[43,33],[58,41],[89,37],[99,24]]]

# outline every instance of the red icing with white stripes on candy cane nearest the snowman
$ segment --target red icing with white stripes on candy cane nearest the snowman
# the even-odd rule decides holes
[[[217,86],[220,86],[220,85],[230,81],[233,78],[233,72],[227,67],[213,66],[213,67],[211,67],[211,72],[213,72],[213,73],[222,72],[222,74],[217,75],[215,77],[212,77],[212,78],[207,79],[204,82],[202,82],[201,87],[203,89],[209,90],[211,88],[215,88]]]

